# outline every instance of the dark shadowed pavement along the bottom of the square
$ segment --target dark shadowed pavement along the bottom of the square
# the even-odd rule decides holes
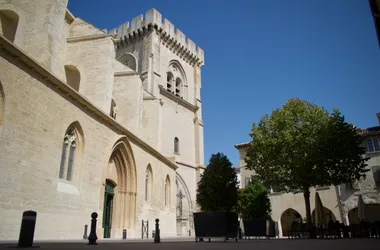
[[[219,240],[211,242],[178,241],[181,239],[163,239],[162,243],[154,244],[149,241],[137,242],[134,240],[101,240],[96,246],[87,245],[87,241],[78,242],[36,242],[35,246],[40,249],[72,249],[72,250],[379,250],[379,239],[339,239],[339,240],[241,240],[238,243],[228,241],[224,243]],[[183,239],[182,239],[183,240]],[[141,240],[140,240],[141,241]],[[0,244],[0,249],[12,249],[17,246],[13,244]],[[11,247],[11,248],[10,248]],[[38,248],[37,248],[38,249]]]

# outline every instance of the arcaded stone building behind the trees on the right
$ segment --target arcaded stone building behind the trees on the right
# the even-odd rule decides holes
[[[310,206],[315,208],[315,193],[318,192],[325,210],[325,219],[339,220],[345,224],[357,223],[358,197],[361,194],[366,206],[366,215],[370,222],[380,220],[380,113],[377,113],[379,126],[358,129],[367,148],[367,177],[364,180],[339,186],[315,187],[310,190]],[[253,171],[245,168],[246,149],[249,142],[235,145],[239,151],[242,188],[250,181]],[[278,222],[280,236],[287,236],[292,221],[305,221],[306,209],[302,193],[285,193],[269,190],[272,204],[272,219]]]

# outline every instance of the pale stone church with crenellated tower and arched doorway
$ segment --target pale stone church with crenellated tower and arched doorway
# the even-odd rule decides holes
[[[203,50],[151,9],[109,32],[67,0],[0,0],[0,240],[193,230]],[[149,228],[146,226],[149,222]],[[144,226],[143,226],[144,225]]]

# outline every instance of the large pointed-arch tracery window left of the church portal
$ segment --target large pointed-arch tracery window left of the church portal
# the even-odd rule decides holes
[[[58,177],[66,181],[79,181],[84,152],[83,129],[78,121],[71,123],[63,136]]]

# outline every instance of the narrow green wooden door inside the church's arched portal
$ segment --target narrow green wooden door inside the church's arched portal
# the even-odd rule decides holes
[[[114,188],[115,188],[115,185],[111,181],[107,180],[106,188],[104,192],[104,206],[103,206],[104,238],[111,237]]]

